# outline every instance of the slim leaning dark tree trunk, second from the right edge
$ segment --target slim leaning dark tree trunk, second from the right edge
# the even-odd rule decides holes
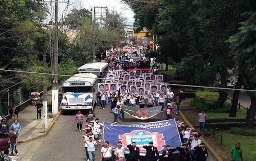
[[[239,74],[237,83],[235,85],[235,89],[241,89],[242,79],[243,79],[242,74]],[[238,103],[239,93],[240,93],[240,91],[234,91],[234,93],[233,93],[232,105],[231,105],[231,109],[229,112],[229,117],[236,117],[236,115],[237,115],[237,103]]]

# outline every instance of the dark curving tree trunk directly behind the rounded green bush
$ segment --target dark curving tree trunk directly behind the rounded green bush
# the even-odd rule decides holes
[[[221,76],[221,87],[227,88],[227,71],[222,71],[220,73]],[[224,102],[227,99],[227,90],[226,89],[220,89],[219,90],[219,98],[217,100],[217,103],[214,106],[214,109],[221,108]]]

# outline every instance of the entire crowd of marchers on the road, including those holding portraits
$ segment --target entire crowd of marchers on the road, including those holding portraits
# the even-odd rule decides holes
[[[144,56],[142,52],[140,58],[144,60]],[[166,119],[172,119],[173,111],[178,115],[181,98],[178,94],[175,95],[172,88],[165,83],[164,76],[158,74],[159,64],[147,72],[115,70],[118,62],[128,58],[127,52],[120,53],[118,50],[114,50],[106,59],[112,70],[107,74],[105,82],[98,84],[97,105],[101,106],[103,110],[110,105],[116,124],[119,119],[124,118],[123,105],[140,108],[159,106],[161,111],[165,112]],[[184,92],[184,90],[182,88],[178,92]],[[100,161],[111,161],[112,158],[115,158],[116,161],[140,161],[140,149],[136,142],[127,146],[118,140],[117,145],[109,145],[108,141],[102,143],[103,124],[99,122],[93,111],[89,111],[86,115],[79,111],[75,115],[74,121],[78,131],[85,132],[82,137],[84,138],[87,161],[95,160],[96,149],[101,146]],[[82,127],[83,122],[87,122],[85,128]],[[148,145],[143,146],[146,149],[145,159],[147,161],[206,161],[208,152],[204,143],[199,139],[201,134],[178,119],[176,119],[176,124],[182,145],[179,147],[167,145],[162,157],[159,157],[157,147],[153,145],[153,142],[149,142]],[[124,153],[126,148],[129,149],[128,155]]]

